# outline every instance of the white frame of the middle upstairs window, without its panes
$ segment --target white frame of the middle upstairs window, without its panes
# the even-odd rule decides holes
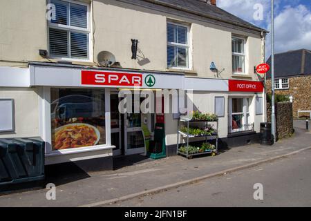
[[[175,43],[175,42],[171,42],[171,41],[167,41],[167,47],[168,46],[172,46],[172,47],[180,47],[180,48],[186,48],[188,49],[188,56],[187,56],[187,59],[188,59],[188,67],[182,67],[182,66],[168,66],[167,65],[167,68],[168,69],[175,69],[175,70],[191,70],[192,69],[192,60],[191,60],[191,44],[190,44],[190,25],[187,25],[185,23],[178,23],[176,21],[167,21],[167,28],[168,28],[168,25],[171,24],[173,26],[181,26],[181,27],[184,27],[184,28],[187,28],[187,44],[179,44],[179,43]],[[168,55],[167,55],[167,58],[168,58]]]

